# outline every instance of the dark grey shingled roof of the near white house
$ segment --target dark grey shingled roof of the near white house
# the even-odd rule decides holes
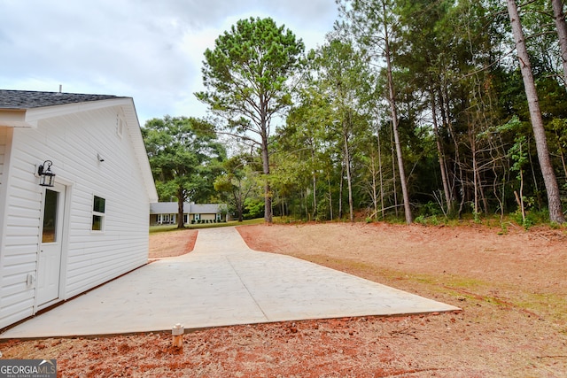
[[[106,95],[81,95],[60,92],[35,92],[31,90],[0,89],[0,109],[32,109],[44,106],[77,104],[89,101],[124,98]]]

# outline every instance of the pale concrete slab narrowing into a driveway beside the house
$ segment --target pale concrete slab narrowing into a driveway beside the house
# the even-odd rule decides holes
[[[250,250],[235,228],[200,230],[164,258],[8,329],[0,338],[89,336],[459,310],[298,258]]]

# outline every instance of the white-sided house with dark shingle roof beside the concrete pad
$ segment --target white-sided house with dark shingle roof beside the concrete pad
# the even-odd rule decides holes
[[[0,90],[0,328],[146,264],[157,200],[132,98]]]

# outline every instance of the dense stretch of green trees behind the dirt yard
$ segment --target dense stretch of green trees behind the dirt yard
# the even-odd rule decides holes
[[[210,116],[143,127],[160,200],[267,221],[564,221],[561,0],[337,5],[316,50],[273,19],[206,50]]]

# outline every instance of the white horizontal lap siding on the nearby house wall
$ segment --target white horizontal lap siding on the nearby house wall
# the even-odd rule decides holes
[[[34,171],[43,160],[53,162],[55,180],[67,185],[70,199],[61,299],[147,262],[149,198],[128,128],[122,137],[116,134],[119,112],[118,107],[78,112],[40,120],[37,128],[13,130],[0,259],[0,328],[34,311],[35,290],[27,288],[26,279],[36,274],[43,189]],[[97,154],[105,161],[99,162]],[[106,201],[104,232],[91,231],[94,196]]]

